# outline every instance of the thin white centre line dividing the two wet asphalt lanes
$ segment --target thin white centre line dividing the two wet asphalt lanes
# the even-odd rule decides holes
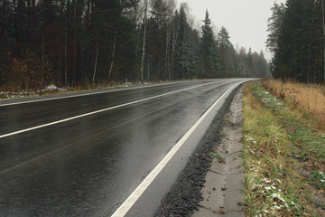
[[[167,96],[167,95],[171,95],[173,93],[181,92],[181,91],[184,91],[184,90],[190,90],[190,89],[200,88],[202,86],[207,86],[207,85],[214,84],[214,83],[218,83],[218,82],[219,81],[211,82],[211,83],[206,83],[206,84],[201,84],[201,85],[197,85],[197,86],[190,87],[190,88],[186,88],[186,89],[182,89],[182,90],[175,90],[175,91],[168,92],[168,93],[163,93],[163,94],[160,94],[160,95],[157,95],[157,96],[154,96],[154,97],[150,97],[150,98],[145,98],[145,99],[140,99],[140,100],[128,102],[128,103],[121,104],[121,105],[118,105],[118,106],[115,106],[115,107],[110,107],[110,108],[107,108],[107,109],[100,109],[100,110],[92,111],[92,112],[89,112],[89,113],[86,113],[86,114],[83,114],[83,115],[79,115],[79,116],[75,116],[75,117],[71,117],[71,118],[61,119],[61,120],[54,121],[54,122],[51,122],[51,123],[48,123],[48,124],[43,124],[43,125],[39,125],[39,126],[36,126],[36,127],[25,128],[25,129],[18,130],[18,131],[12,132],[12,133],[7,133],[7,134],[4,134],[4,135],[0,135],[0,138],[3,138],[3,137],[11,137],[11,136],[14,136],[14,135],[17,135],[17,134],[21,134],[21,133],[24,133],[24,132],[28,132],[28,131],[31,131],[31,130],[34,130],[34,129],[38,129],[38,128],[42,128],[42,127],[49,127],[49,126],[56,125],[56,124],[60,124],[60,123],[63,123],[63,122],[67,122],[67,121],[70,121],[70,120],[73,120],[73,119],[87,117],[87,116],[94,115],[94,114],[98,114],[100,112],[104,112],[104,111],[107,111],[107,110],[117,109],[117,108],[129,106],[129,105],[132,105],[132,104],[135,104],[135,103],[147,101],[147,100],[150,100],[150,99],[160,98],[160,97]]]

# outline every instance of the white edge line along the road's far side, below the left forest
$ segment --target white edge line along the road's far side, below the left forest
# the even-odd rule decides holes
[[[187,81],[191,82],[191,81]],[[136,90],[136,89],[143,89],[143,88],[150,88],[150,87],[155,87],[155,86],[160,86],[160,85],[171,85],[171,84],[178,84],[181,82],[171,82],[171,83],[165,83],[165,84],[153,84],[153,85],[148,85],[148,86],[140,86],[140,87],[135,87],[135,88],[130,88],[130,89],[122,89],[122,90],[105,90],[105,91],[99,91],[99,92],[91,92],[91,93],[86,93],[86,94],[77,94],[73,96],[66,96],[66,97],[56,97],[56,98],[50,98],[50,99],[36,99],[36,100],[29,100],[29,101],[21,101],[21,102],[13,102],[13,103],[5,103],[5,104],[0,104],[0,107],[5,107],[5,106],[14,106],[14,105],[20,105],[20,104],[27,104],[27,103],[33,103],[33,102],[40,102],[40,101],[51,101],[51,100],[56,100],[56,99],[69,99],[69,98],[78,98],[78,97],[86,97],[86,96],[91,96],[91,95],[97,95],[97,94],[102,94],[102,93],[108,93],[108,92],[117,92],[117,91],[125,91],[125,90]]]

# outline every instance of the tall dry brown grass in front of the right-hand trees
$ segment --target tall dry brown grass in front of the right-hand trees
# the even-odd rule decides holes
[[[265,90],[287,101],[292,109],[298,109],[302,117],[312,120],[319,130],[325,130],[324,85],[270,79],[261,80],[261,85]]]

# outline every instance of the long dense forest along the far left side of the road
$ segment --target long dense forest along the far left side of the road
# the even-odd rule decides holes
[[[2,0],[0,84],[40,90],[146,80],[265,77],[263,52],[200,29],[175,0]]]

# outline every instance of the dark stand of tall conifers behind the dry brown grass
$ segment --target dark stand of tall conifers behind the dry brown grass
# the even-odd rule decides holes
[[[266,43],[274,78],[324,82],[323,0],[287,0],[272,12]]]

